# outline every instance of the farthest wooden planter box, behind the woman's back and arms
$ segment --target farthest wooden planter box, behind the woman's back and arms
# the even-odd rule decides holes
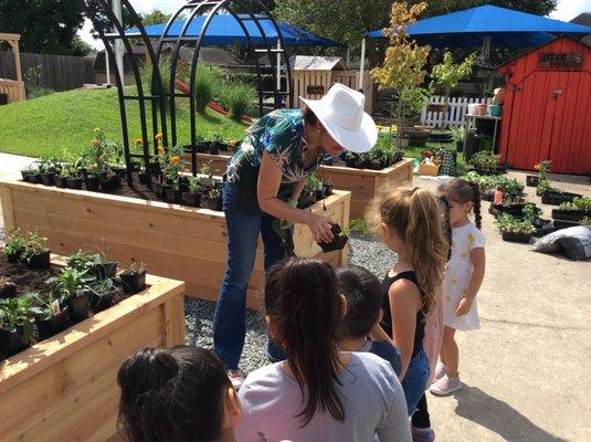
[[[190,156],[187,156],[190,161]],[[223,173],[229,155],[198,154],[198,165],[211,161],[214,173]],[[362,218],[366,207],[376,192],[387,182],[392,186],[412,186],[413,160],[404,158],[383,170],[352,169],[340,166],[320,166],[317,176],[335,185],[335,189],[351,192],[351,218]]]

